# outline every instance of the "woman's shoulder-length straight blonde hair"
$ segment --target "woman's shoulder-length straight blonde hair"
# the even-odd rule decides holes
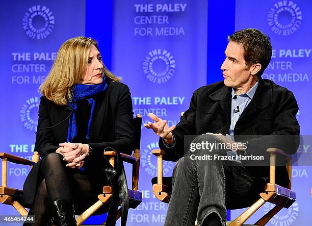
[[[72,87],[86,73],[91,45],[98,49],[97,42],[92,38],[76,37],[64,42],[46,80],[39,88],[41,94],[57,105],[67,106],[67,97],[72,101]],[[104,64],[103,72],[112,81],[120,81]]]

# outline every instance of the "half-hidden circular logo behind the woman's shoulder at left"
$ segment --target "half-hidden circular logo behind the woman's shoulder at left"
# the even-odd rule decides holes
[[[20,110],[20,120],[24,127],[31,131],[37,131],[39,103],[40,97],[31,97]]]

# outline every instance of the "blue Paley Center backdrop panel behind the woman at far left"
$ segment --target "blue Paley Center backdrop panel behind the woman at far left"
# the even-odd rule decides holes
[[[39,85],[61,44],[85,35],[85,11],[84,0],[75,4],[61,0],[1,1],[1,152],[32,158]],[[29,171],[29,166],[8,163],[8,187],[22,189]],[[13,207],[0,205],[0,215],[13,214],[17,214]]]

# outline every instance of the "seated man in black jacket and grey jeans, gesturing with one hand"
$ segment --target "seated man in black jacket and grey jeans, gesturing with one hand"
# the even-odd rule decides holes
[[[238,208],[250,205],[263,189],[259,185],[269,177],[268,165],[245,159],[267,159],[269,147],[283,148],[288,154],[298,148],[297,139],[289,139],[300,131],[293,93],[261,78],[272,55],[269,37],[256,29],[244,29],[229,36],[228,41],[221,66],[224,81],[197,89],[176,127],[169,128],[166,120],[153,114],[149,116],[155,122],[145,124],[160,137],[164,158],[178,160],[165,225],[194,225],[196,219],[198,225],[225,225],[226,208],[237,200],[246,200]],[[186,135],[197,135],[192,141],[195,144],[226,147],[216,145],[208,151],[200,146],[196,151],[190,148],[186,155]],[[277,139],[283,136],[288,138],[282,142]],[[203,158],[207,154],[211,159]],[[288,183],[285,167],[278,168],[276,183]]]

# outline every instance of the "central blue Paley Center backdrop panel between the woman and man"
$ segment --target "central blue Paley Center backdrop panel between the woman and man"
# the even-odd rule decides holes
[[[169,126],[176,124],[193,91],[206,83],[207,3],[114,1],[112,31],[112,70],[129,86],[134,113],[142,115],[143,123],[152,112]],[[167,205],[153,196],[150,182],[157,176],[151,151],[158,137],[143,129],[142,138],[139,187],[144,203],[129,211],[128,225],[163,225]],[[165,177],[173,166],[164,163]]]

